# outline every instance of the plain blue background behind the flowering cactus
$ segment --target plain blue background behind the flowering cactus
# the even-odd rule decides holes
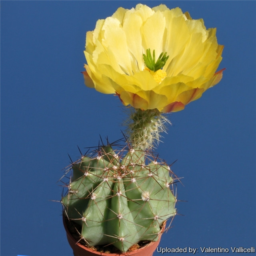
[[[170,114],[157,152],[182,179],[162,247],[256,245],[255,1],[141,1],[179,6],[217,27],[222,81]],[[68,154],[122,137],[118,97],[84,86],[85,34],[137,1],[1,1],[1,256],[71,256],[62,225]],[[52,201],[53,200],[53,201]],[[186,201],[186,202],[184,202]],[[231,250],[230,253],[232,254]],[[155,256],[161,255],[157,252]]]

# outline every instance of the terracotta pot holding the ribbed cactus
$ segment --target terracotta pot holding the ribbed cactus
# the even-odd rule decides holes
[[[156,250],[162,233],[159,236],[159,239],[156,242],[150,242],[149,244],[146,244],[145,246],[130,251],[130,252],[124,252],[124,253],[105,253],[105,252],[98,252],[95,250],[92,250],[82,244],[80,244],[71,234],[70,231],[67,228],[66,222],[67,218],[63,215],[63,224],[64,228],[66,230],[67,238],[68,238],[68,243],[70,244],[71,248],[73,249],[74,256],[96,256],[96,255],[101,255],[101,256],[152,256],[153,252]],[[161,232],[164,232],[166,222],[164,222],[162,226]]]

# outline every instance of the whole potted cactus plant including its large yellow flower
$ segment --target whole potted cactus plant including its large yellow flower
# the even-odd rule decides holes
[[[130,110],[124,122],[126,146],[100,146],[68,168],[64,216],[87,246],[127,252],[142,241],[158,240],[163,223],[176,215],[176,178],[149,150],[171,124],[167,113],[200,98],[220,82],[224,70],[216,72],[224,47],[217,43],[216,29],[206,30],[200,19],[193,20],[195,30],[191,22],[180,8],[138,4],[118,8],[86,33],[86,86],[116,94]],[[163,33],[174,40],[163,44]],[[192,40],[198,35],[204,40]]]

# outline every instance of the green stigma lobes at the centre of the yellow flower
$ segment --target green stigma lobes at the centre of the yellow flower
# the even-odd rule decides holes
[[[146,53],[147,55],[143,54],[145,65],[154,72],[161,69],[169,58],[166,56],[167,52],[162,52],[156,61],[155,50],[153,50],[153,58],[150,49],[147,49]]]

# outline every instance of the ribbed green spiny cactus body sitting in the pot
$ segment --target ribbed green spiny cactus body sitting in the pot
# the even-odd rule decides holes
[[[72,169],[62,204],[89,246],[112,244],[126,252],[139,241],[156,241],[164,220],[176,214],[170,168],[144,151],[104,146]]]

